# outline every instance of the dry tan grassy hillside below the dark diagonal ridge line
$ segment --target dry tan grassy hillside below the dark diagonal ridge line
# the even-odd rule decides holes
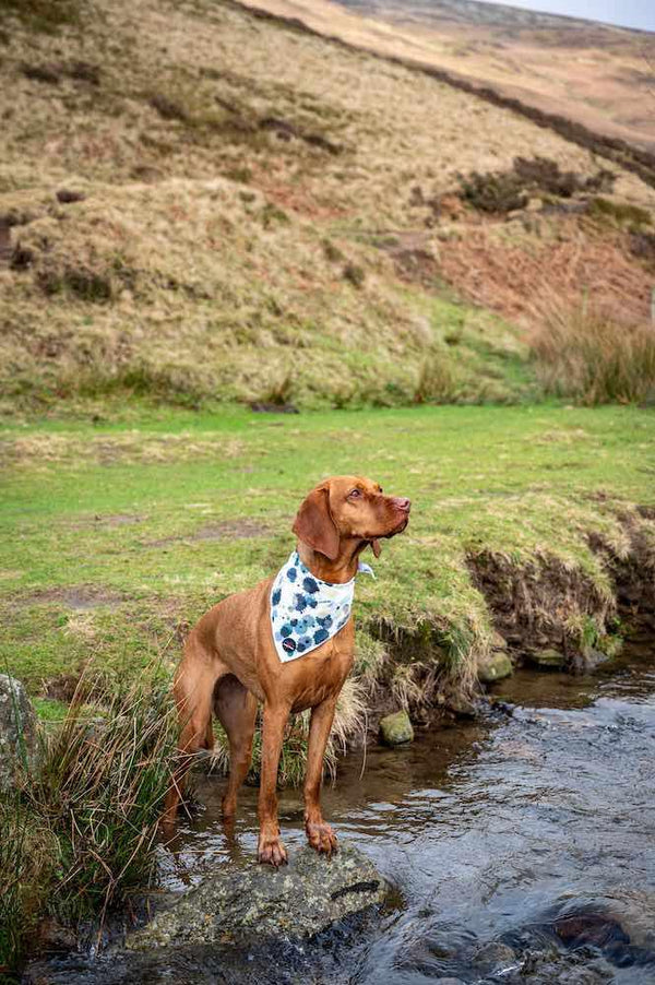
[[[0,46],[4,412],[516,402],[545,288],[646,316],[655,192],[432,79],[221,0],[12,0]],[[574,191],[466,193],[516,157]]]

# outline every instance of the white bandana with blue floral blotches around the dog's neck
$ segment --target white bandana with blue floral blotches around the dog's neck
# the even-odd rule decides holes
[[[359,571],[373,573],[361,563]],[[279,660],[296,660],[343,629],[354,594],[354,578],[341,585],[321,581],[305,567],[298,551],[291,551],[271,589],[271,628]]]

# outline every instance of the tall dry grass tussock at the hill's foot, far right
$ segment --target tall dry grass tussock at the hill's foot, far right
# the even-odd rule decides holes
[[[532,334],[537,372],[549,393],[584,404],[655,400],[655,324],[556,297],[539,306]]]

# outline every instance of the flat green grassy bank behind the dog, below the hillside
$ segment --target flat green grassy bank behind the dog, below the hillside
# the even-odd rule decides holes
[[[441,687],[451,672],[463,681],[488,648],[467,556],[490,550],[520,568],[548,554],[610,598],[587,535],[620,554],[618,514],[655,505],[654,432],[644,411],[548,406],[151,412],[5,429],[0,661],[41,693],[87,657],[121,675],[154,657],[172,666],[189,622],[286,557],[308,487],[359,471],[415,502],[378,580],[358,583],[359,673],[417,703],[430,670]],[[640,523],[655,544],[655,524]],[[608,613],[586,614],[600,633]],[[585,613],[555,613],[575,615]],[[384,644],[373,639],[381,627]]]

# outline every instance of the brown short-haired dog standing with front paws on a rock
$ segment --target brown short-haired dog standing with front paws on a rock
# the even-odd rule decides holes
[[[350,582],[365,547],[370,545],[379,557],[380,538],[405,530],[409,507],[408,499],[384,496],[377,483],[360,476],[341,475],[321,483],[300,506],[293,526],[307,574],[329,583],[327,590]],[[312,713],[305,827],[313,848],[327,854],[336,851],[336,836],[323,820],[319,796],[336,699],[353,666],[355,630],[348,609],[347,621],[330,639],[283,663],[271,624],[273,584],[274,579],[269,578],[248,592],[224,598],[189,636],[174,685],[181,755],[163,824],[165,831],[172,831],[191,756],[214,745],[212,711],[229,739],[230,772],[223,814],[226,820],[234,818],[237,793],[250,768],[258,701],[262,701],[258,857],[278,866],[287,858],[277,824],[282,743],[289,714],[308,708]]]

